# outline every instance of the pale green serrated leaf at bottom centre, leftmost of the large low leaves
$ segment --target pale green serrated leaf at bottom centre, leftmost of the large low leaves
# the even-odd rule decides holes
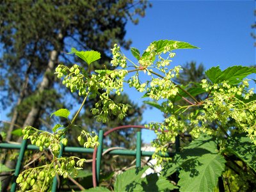
[[[147,170],[148,166],[143,168],[133,168],[116,177],[114,184],[115,191],[132,191],[139,184],[141,175]]]

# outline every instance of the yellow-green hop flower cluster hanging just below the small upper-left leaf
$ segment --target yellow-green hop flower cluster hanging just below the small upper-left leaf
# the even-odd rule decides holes
[[[114,51],[118,54],[120,48],[114,47]],[[120,58],[116,58],[120,60]],[[79,95],[89,95],[93,99],[99,95],[99,102],[92,108],[92,114],[95,115],[98,122],[107,122],[109,114],[117,115],[122,119],[128,109],[126,104],[116,104],[110,99],[110,93],[120,95],[124,88],[124,78],[127,75],[127,70],[99,70],[99,74],[86,74],[86,71],[74,65],[68,68],[64,65],[58,65],[56,68],[58,77],[63,77],[63,84],[70,88],[71,92],[79,91]],[[105,90],[101,93],[99,90]]]

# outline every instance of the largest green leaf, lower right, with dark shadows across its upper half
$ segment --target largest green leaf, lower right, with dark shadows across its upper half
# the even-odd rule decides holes
[[[202,134],[180,153],[180,191],[213,191],[225,170],[225,159],[218,154],[214,138]],[[188,182],[189,180],[189,182]]]

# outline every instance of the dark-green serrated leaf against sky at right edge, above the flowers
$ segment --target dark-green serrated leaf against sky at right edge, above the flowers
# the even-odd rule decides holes
[[[205,75],[212,83],[228,81],[228,84],[238,84],[244,77],[253,73],[256,73],[256,68],[243,66],[228,67],[223,71],[221,71],[220,66],[218,66],[205,71]]]

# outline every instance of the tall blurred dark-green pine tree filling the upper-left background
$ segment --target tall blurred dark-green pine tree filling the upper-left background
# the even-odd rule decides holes
[[[127,21],[131,20],[137,24],[149,5],[147,1],[126,0],[1,1],[0,43],[3,45],[3,54],[0,56],[0,65],[3,94],[0,102],[4,109],[7,108],[6,111],[10,111],[8,116],[12,118],[10,124],[5,123],[0,127],[7,133],[5,140],[19,142],[22,139],[19,134],[12,134],[16,127],[24,128],[30,125],[51,131],[52,125],[58,119],[55,116],[49,117],[52,111],[60,108],[72,111],[76,108],[76,104],[82,102],[81,97],[77,93],[66,92],[61,82],[56,81],[52,71],[61,61],[67,66],[76,62],[81,67],[88,68],[79,57],[74,59],[66,54],[74,45],[77,50],[93,49],[100,52],[100,60],[94,61],[99,57],[88,58],[88,64],[94,61],[90,70],[109,67],[112,45],[119,42],[122,47],[128,49],[131,44],[131,40],[124,39]],[[138,109],[136,104],[127,99],[127,95],[120,98],[126,98],[126,104]],[[98,98],[90,100],[86,102],[85,107],[90,108],[97,101]],[[95,131],[102,127],[102,124],[84,126],[88,119],[81,117],[83,112],[77,116],[77,120],[81,122],[84,130]],[[140,121],[140,111],[129,110],[129,113],[130,116],[132,113],[139,115]],[[116,121],[113,118],[112,120]],[[124,120],[129,122],[126,118]],[[119,123],[122,124],[122,121]],[[66,124],[67,120],[61,118],[60,125],[65,127]],[[76,141],[76,137],[76,134],[68,134],[70,141]],[[6,159],[6,165],[15,164],[9,161],[8,156],[3,157]],[[4,191],[10,183],[9,178],[1,177],[5,183]]]

